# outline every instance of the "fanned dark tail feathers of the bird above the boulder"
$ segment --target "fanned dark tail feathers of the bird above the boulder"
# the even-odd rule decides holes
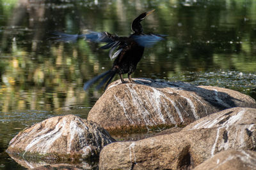
[[[109,71],[106,71],[102,74],[99,74],[99,76],[95,76],[94,78],[92,78],[91,80],[87,81],[84,83],[84,87],[83,89],[86,91],[89,89],[89,87],[91,87],[91,85],[93,83],[95,83],[96,81],[98,81],[100,78],[103,78],[104,79],[102,81],[100,81],[99,85],[97,85],[96,89],[99,90],[100,87],[102,87],[102,85],[104,85],[104,83],[106,83],[106,86],[104,88],[104,90],[106,90],[106,87],[108,87],[109,83],[111,82],[111,80],[114,78],[116,72],[113,71],[113,70],[109,70]]]

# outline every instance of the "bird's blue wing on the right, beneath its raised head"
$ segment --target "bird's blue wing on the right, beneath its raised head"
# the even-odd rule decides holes
[[[157,35],[157,34],[144,34],[140,36],[131,36],[134,41],[138,43],[138,45],[143,47],[150,47],[156,44],[158,41],[163,40],[166,35]]]

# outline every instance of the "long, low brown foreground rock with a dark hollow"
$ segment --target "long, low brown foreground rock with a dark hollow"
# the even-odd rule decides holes
[[[256,125],[232,125],[116,142],[100,152],[100,169],[188,169],[228,148],[255,150]],[[247,133],[248,129],[252,132]]]

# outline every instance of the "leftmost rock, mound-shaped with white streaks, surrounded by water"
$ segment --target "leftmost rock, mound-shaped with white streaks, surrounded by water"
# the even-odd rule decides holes
[[[94,122],[74,115],[52,117],[19,132],[6,152],[24,158],[92,159],[115,141]]]

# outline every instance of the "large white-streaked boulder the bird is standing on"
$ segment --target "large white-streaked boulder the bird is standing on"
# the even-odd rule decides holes
[[[182,82],[135,79],[135,83],[109,85],[95,103],[88,120],[109,132],[186,125],[202,117],[233,107],[256,108],[250,96],[234,90],[195,86]]]

